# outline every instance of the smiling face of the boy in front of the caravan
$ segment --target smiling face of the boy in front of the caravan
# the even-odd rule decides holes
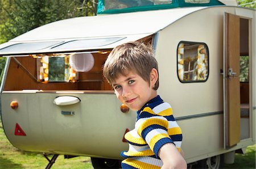
[[[119,74],[112,86],[117,98],[127,107],[137,111],[156,97],[154,84],[154,81],[146,82],[137,73],[129,71],[126,75]]]

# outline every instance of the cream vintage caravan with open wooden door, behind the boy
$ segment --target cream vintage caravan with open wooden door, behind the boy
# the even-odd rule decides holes
[[[97,16],[49,23],[0,45],[2,123],[15,147],[55,154],[48,168],[59,154],[118,167],[136,112],[117,100],[102,65],[127,41],[154,48],[158,94],[174,109],[190,167],[219,168],[255,144],[255,10],[235,0],[110,2],[98,2]]]

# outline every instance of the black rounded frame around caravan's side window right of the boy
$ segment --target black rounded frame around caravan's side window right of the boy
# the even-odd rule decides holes
[[[206,48],[207,48],[207,54],[208,54],[208,67],[207,67],[207,71],[208,71],[208,75],[207,75],[207,78],[205,80],[196,80],[196,81],[182,81],[180,78],[179,78],[179,61],[178,61],[178,50],[179,50],[179,45],[183,43],[187,43],[187,44],[198,44],[198,45],[204,45]],[[176,72],[177,72],[177,78],[179,79],[179,81],[181,83],[201,83],[201,82],[207,82],[208,81],[208,78],[209,78],[209,74],[210,74],[210,55],[209,55],[209,47],[206,43],[203,43],[203,42],[195,42],[195,41],[180,41],[178,44],[177,44],[177,49],[176,49]]]

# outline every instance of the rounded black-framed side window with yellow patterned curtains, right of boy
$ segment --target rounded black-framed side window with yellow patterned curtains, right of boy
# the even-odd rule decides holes
[[[205,82],[209,74],[209,50],[204,43],[181,41],[177,48],[180,82]]]

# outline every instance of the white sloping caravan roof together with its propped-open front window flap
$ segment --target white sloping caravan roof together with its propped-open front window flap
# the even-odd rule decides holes
[[[0,55],[109,49],[152,35],[185,15],[204,8],[130,12],[59,20],[1,44]],[[76,44],[80,44],[81,40],[84,46],[80,48]],[[67,43],[72,43],[72,47]]]

